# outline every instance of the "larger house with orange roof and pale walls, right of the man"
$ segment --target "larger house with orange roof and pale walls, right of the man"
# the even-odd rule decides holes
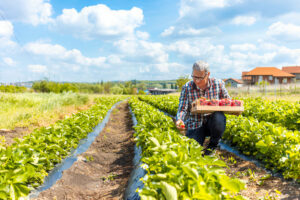
[[[261,81],[266,81],[270,84],[286,84],[292,83],[296,77],[293,74],[282,71],[276,67],[256,67],[255,69],[244,74],[248,84],[255,85]],[[250,77],[250,78],[249,78]]]

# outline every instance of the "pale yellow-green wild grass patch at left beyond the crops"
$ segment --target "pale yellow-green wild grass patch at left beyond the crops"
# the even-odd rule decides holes
[[[0,93],[0,129],[34,128],[54,123],[84,109],[92,99],[75,93]]]

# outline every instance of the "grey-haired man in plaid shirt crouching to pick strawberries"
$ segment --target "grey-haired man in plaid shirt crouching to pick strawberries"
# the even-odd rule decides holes
[[[186,136],[195,139],[203,146],[206,136],[210,136],[210,141],[204,151],[204,155],[210,155],[217,148],[225,127],[226,117],[223,112],[212,114],[192,114],[192,102],[198,98],[206,99],[230,99],[225,84],[222,80],[209,77],[209,65],[203,61],[198,61],[193,65],[192,78],[181,90],[179,106],[176,115],[176,126],[182,129],[185,124]]]

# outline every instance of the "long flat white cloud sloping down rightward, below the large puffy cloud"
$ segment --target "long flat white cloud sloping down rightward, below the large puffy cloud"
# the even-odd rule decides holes
[[[69,62],[81,66],[103,67],[106,61],[105,57],[85,57],[77,49],[66,50],[63,46],[57,44],[35,42],[25,45],[24,48],[32,54],[44,56],[47,60]]]

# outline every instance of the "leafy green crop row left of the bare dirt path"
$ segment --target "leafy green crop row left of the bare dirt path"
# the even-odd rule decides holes
[[[89,110],[0,145],[0,199],[19,199],[43,183],[47,172],[78,146],[121,98],[102,97]]]

